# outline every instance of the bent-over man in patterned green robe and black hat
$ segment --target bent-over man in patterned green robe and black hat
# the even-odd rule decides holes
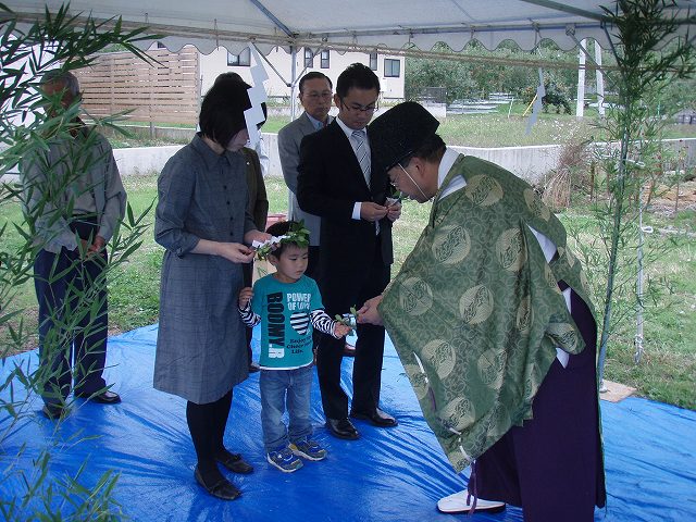
[[[589,522],[606,500],[597,328],[566,231],[508,171],[446,148],[407,102],[371,125],[395,187],[433,200],[427,228],[383,295],[360,310],[384,324],[423,414],[469,494],[521,506],[526,522]]]

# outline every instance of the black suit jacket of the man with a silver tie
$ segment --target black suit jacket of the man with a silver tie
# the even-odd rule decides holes
[[[322,219],[320,265],[330,268],[332,279],[364,270],[374,259],[375,241],[381,243],[384,263],[394,262],[391,222],[383,219],[375,236],[374,223],[352,219],[356,201],[384,204],[388,195],[389,179],[374,156],[368,187],[348,137],[334,121],[304,136],[298,172],[297,199],[302,210]]]

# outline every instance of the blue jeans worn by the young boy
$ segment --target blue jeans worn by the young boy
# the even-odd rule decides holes
[[[261,427],[266,452],[312,434],[312,371],[311,364],[296,370],[261,370]],[[283,422],[286,401],[289,426]]]

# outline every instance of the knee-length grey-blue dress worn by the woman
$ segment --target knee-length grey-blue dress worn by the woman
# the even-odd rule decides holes
[[[158,181],[154,239],[162,262],[154,387],[191,402],[213,402],[248,376],[237,312],[241,265],[190,251],[199,239],[243,243],[256,228],[247,212],[246,162],[220,156],[196,136]]]

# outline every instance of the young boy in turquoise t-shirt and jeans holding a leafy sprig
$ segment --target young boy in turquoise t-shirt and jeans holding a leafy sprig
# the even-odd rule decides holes
[[[276,272],[239,293],[239,313],[248,326],[261,322],[261,425],[268,461],[291,473],[297,456],[322,460],[326,450],[312,440],[309,419],[312,384],[312,328],[336,338],[350,327],[332,320],[314,279],[304,275],[309,237],[301,223],[282,221],[266,231],[281,238],[269,262]],[[287,401],[289,426],[283,423]]]

